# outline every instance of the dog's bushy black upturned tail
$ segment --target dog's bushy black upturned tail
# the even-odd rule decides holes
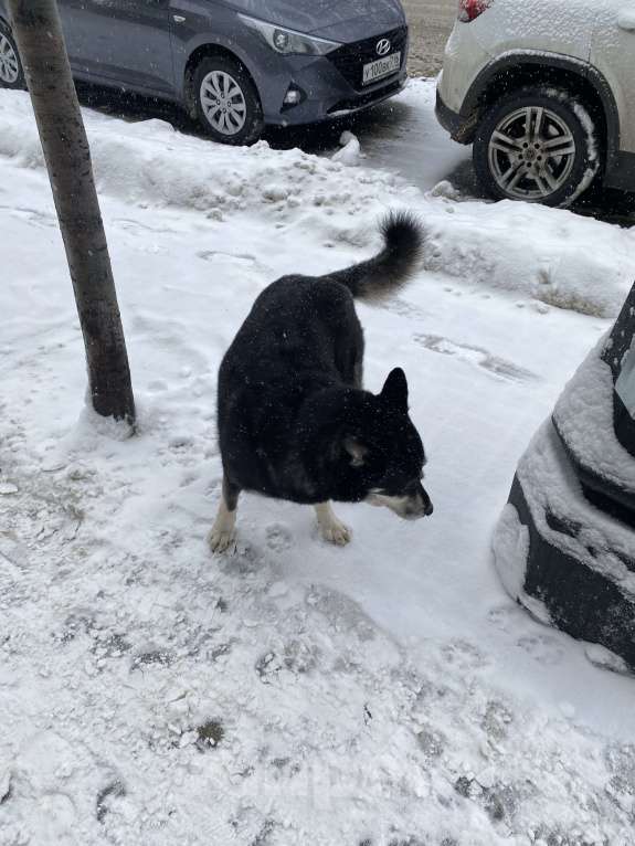
[[[381,299],[404,285],[423,252],[423,228],[414,214],[391,212],[381,222],[384,247],[370,258],[328,277],[346,285],[356,299]]]

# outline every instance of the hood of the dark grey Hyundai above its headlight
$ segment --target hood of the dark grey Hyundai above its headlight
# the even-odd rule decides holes
[[[358,41],[395,29],[405,17],[400,0],[232,0],[271,23],[335,41]]]

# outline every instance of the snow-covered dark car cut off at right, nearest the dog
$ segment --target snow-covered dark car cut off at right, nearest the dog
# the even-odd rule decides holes
[[[494,538],[511,596],[635,671],[635,286],[521,458]]]

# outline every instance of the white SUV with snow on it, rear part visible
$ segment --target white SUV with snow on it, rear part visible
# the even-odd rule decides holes
[[[635,0],[459,0],[436,114],[495,199],[635,191]]]

